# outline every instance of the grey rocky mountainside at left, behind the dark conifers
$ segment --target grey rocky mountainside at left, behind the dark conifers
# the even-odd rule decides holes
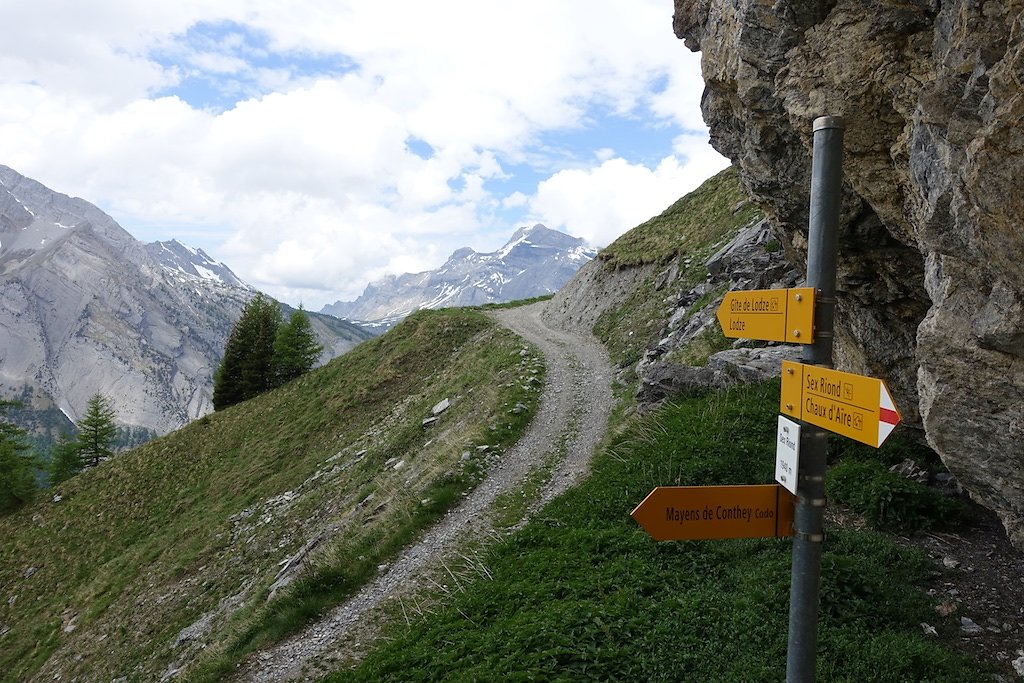
[[[85,200],[6,166],[0,293],[0,394],[74,422],[101,392],[119,423],[157,433],[211,410],[213,372],[255,294],[202,250],[143,244]],[[324,360],[369,336],[310,317]]]

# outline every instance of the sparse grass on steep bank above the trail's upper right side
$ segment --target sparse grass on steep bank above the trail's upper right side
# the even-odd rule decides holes
[[[639,360],[665,324],[665,302],[702,282],[708,257],[760,217],[744,200],[736,171],[728,168],[598,254],[607,269],[647,266],[651,271],[621,306],[607,310],[594,326],[613,361],[627,367]],[[733,213],[737,206],[742,208]],[[672,261],[678,263],[679,276],[655,292],[657,270]]]

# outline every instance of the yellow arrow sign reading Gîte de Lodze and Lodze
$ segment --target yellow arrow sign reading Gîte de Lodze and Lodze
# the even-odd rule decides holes
[[[810,344],[814,341],[814,288],[727,292],[718,307],[718,322],[731,339]]]

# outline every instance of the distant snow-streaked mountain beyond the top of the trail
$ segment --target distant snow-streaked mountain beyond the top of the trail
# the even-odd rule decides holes
[[[502,303],[553,294],[594,258],[584,240],[544,225],[520,227],[496,252],[456,251],[435,270],[388,275],[367,285],[354,301],[321,312],[386,329],[420,308]]]

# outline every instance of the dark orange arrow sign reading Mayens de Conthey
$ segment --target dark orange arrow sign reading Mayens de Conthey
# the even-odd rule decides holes
[[[658,486],[630,514],[655,541],[793,536],[793,497],[778,484]]]

